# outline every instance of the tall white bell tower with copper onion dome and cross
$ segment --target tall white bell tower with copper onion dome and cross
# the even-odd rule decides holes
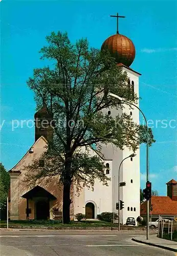
[[[122,72],[126,72],[128,76],[127,87],[132,95],[139,97],[139,77],[140,73],[130,68],[135,59],[136,50],[134,43],[127,36],[119,34],[118,19],[124,18],[117,13],[117,33],[109,36],[102,44],[101,50],[108,50],[110,55],[115,58],[117,66]],[[120,95],[118,95],[120,96]],[[139,106],[139,102],[137,103]],[[139,124],[139,110],[137,108],[130,109],[124,105],[123,110],[105,109],[104,114],[116,117],[126,113],[131,116],[132,120]],[[120,187],[120,200],[124,202],[124,208],[120,211],[120,223],[125,224],[128,217],[134,217],[135,220],[140,215],[140,150],[136,152],[136,157],[127,158],[133,152],[127,147],[120,150],[112,144],[102,146],[102,153],[106,159],[112,160],[112,211],[116,212],[116,203],[118,202],[119,183],[125,182],[125,186]],[[120,168],[120,179],[118,177],[118,169],[121,161],[127,158]]]

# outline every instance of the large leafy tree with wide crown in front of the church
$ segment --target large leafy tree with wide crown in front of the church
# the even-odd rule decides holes
[[[53,141],[41,159],[28,166],[27,180],[35,182],[46,177],[59,176],[63,185],[63,222],[70,222],[70,190],[72,183],[92,186],[98,178],[107,184],[104,164],[97,156],[90,156],[88,147],[112,143],[123,150],[135,152],[145,142],[144,127],[128,114],[119,114],[124,106],[112,98],[115,93],[131,102],[137,102],[127,86],[127,74],[122,73],[115,59],[106,51],[89,48],[86,39],[71,44],[67,33],[52,32],[46,37],[48,45],[40,50],[41,59],[50,66],[34,69],[28,86],[35,94],[37,110],[43,105],[54,117]],[[116,118],[103,113],[116,109]],[[150,142],[153,136],[149,130]],[[40,160],[41,160],[40,159]],[[31,172],[30,172],[31,171]]]

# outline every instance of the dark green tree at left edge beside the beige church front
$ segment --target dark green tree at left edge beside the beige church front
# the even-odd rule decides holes
[[[7,196],[10,188],[10,175],[4,165],[0,163],[0,206],[1,209],[6,207]]]

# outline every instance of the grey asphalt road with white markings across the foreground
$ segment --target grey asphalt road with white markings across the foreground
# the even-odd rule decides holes
[[[125,231],[1,231],[1,256],[128,256],[175,255],[139,244]]]

